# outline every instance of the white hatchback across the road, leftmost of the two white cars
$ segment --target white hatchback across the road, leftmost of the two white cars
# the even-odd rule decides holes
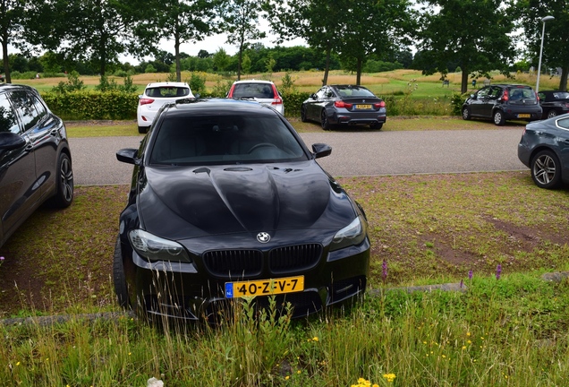
[[[157,111],[167,102],[176,99],[194,98],[190,86],[186,82],[154,82],[149,83],[144,93],[139,96],[139,107],[136,117],[139,133],[147,133]]]

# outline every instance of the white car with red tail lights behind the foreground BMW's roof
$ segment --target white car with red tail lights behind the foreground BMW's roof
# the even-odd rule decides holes
[[[283,97],[276,90],[275,83],[270,81],[235,81],[227,93],[227,98],[254,99],[259,104],[273,107],[281,115],[285,115]]]

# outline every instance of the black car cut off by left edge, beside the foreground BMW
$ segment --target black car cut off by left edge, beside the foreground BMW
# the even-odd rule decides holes
[[[72,199],[63,121],[37,90],[0,85],[0,246],[41,203],[67,207]]]

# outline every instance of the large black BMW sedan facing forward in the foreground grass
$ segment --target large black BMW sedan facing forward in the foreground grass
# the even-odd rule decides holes
[[[140,149],[120,216],[119,303],[149,317],[208,319],[240,297],[305,316],[361,295],[369,275],[360,206],[285,118],[256,102],[166,105]]]

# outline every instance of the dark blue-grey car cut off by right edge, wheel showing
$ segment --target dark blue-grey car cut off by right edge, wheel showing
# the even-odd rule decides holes
[[[518,158],[541,188],[569,183],[569,114],[526,125]]]

